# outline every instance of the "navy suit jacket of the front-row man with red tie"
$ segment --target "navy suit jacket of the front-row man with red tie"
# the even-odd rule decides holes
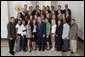
[[[38,37],[43,37],[43,35],[46,33],[46,24],[41,21],[40,28],[39,28],[39,22],[37,23],[37,35]]]

